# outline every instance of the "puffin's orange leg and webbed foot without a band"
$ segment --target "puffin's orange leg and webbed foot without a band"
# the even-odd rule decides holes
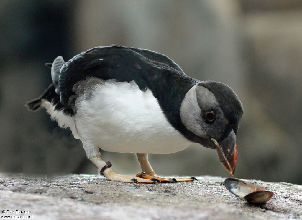
[[[153,171],[149,161],[148,161],[148,154],[146,153],[137,153],[137,159],[140,162],[140,167],[142,168],[143,172],[137,173],[137,177],[140,178],[156,178],[159,179],[161,182],[178,182],[178,181],[194,181],[197,180],[195,177],[191,178],[184,178],[184,177],[178,177],[178,178],[171,178],[171,177],[161,177],[157,176],[155,172]]]

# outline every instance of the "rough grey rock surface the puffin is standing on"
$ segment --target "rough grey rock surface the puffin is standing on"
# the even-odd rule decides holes
[[[274,192],[266,204],[252,205],[227,191],[224,178],[197,178],[126,184],[96,175],[46,178],[2,173],[1,215],[17,218],[18,211],[25,211],[32,219],[302,219],[300,185],[248,180]]]

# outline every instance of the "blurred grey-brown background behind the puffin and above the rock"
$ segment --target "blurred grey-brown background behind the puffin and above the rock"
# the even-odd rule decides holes
[[[235,177],[302,184],[302,1],[2,0],[0,15],[0,172],[97,173],[70,130],[24,103],[51,83],[44,63],[120,44],[233,88],[244,107]],[[134,154],[101,154],[115,172],[140,172]],[[149,160],[160,175],[230,176],[198,144]]]

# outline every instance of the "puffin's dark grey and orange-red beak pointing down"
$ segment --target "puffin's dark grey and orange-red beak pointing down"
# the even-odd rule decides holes
[[[233,176],[237,163],[237,145],[234,130],[232,130],[229,136],[220,143],[218,143],[214,138],[211,138],[211,140],[217,146],[216,150],[219,161]]]

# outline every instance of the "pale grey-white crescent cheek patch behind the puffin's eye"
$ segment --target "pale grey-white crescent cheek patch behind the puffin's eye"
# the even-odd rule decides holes
[[[180,118],[186,128],[197,136],[204,136],[207,131],[201,126],[203,119],[201,109],[197,102],[196,88],[194,85],[185,95],[180,107]]]

